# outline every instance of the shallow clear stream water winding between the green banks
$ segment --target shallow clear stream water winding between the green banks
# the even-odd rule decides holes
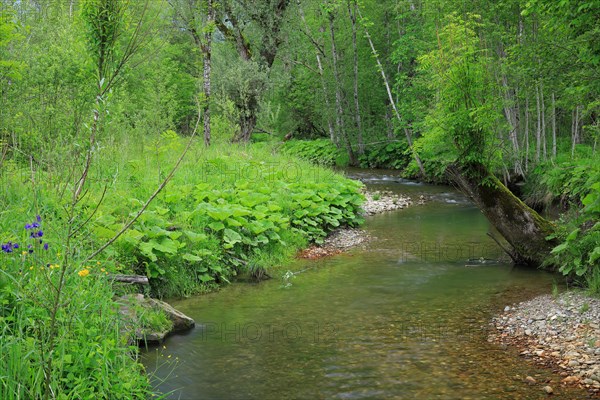
[[[365,246],[298,260],[293,278],[232,284],[174,301],[196,320],[144,354],[155,384],[181,399],[583,399],[551,372],[487,342],[505,305],[551,290],[553,276],[498,259],[489,224],[448,187],[350,171],[424,205],[370,217]],[[160,383],[162,382],[162,383]]]

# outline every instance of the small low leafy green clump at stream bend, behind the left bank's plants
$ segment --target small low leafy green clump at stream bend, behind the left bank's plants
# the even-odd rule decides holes
[[[345,154],[329,139],[288,140],[283,144],[282,152],[290,154],[317,165],[347,165]]]

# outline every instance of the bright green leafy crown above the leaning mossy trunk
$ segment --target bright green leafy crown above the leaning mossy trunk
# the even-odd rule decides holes
[[[421,144],[451,141],[457,152],[454,161],[483,164],[494,170],[498,162],[495,125],[498,103],[491,90],[486,64],[489,59],[479,48],[478,15],[468,19],[446,16],[439,32],[439,48],[419,58],[420,68],[436,91],[436,101],[428,116],[424,136],[436,136]],[[491,167],[491,168],[490,168]]]

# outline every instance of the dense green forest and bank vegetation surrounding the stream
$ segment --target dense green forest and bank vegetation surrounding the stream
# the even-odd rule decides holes
[[[0,397],[145,397],[111,274],[188,295],[359,223],[359,186],[309,161],[524,181],[565,211],[547,262],[598,292],[599,13],[0,0]]]

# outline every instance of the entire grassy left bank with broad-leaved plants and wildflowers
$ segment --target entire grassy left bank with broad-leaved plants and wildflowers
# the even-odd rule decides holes
[[[169,131],[107,139],[75,206],[77,152],[69,164],[68,149],[54,150],[60,165],[41,153],[48,162],[33,170],[5,160],[0,242],[20,246],[0,253],[0,398],[147,398],[147,377],[112,300],[125,290],[110,274],[147,275],[159,297],[190,296],[238,275],[273,274],[309,242],[361,223],[360,183],[269,144],[195,144],[131,229],[87,260],[142,208],[185,140]],[[30,238],[24,226],[36,215],[43,237]],[[160,315],[142,319],[166,324]]]

